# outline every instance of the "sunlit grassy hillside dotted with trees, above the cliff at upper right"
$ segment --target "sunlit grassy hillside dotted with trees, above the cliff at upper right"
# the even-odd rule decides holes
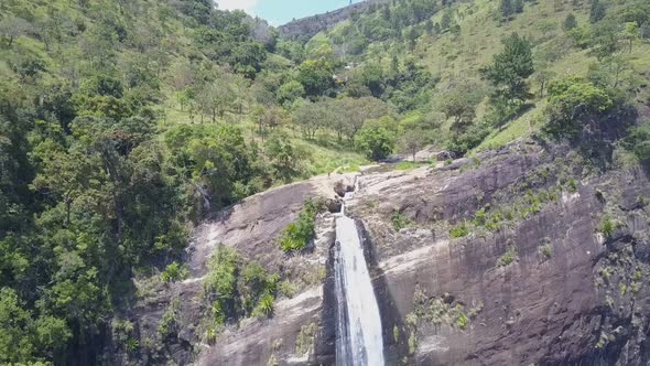
[[[503,9],[510,9],[507,15]],[[544,127],[545,88],[568,76],[609,92],[615,88],[614,94],[622,98],[618,103],[640,104],[644,109],[650,54],[647,12],[643,1],[392,2],[316,35],[307,50],[336,51],[355,65],[345,93],[356,95],[359,84],[366,86],[365,93],[409,116],[403,123],[420,120],[436,126],[430,142],[463,153],[497,148]],[[529,95],[517,100],[521,108],[495,114],[498,108],[490,98],[495,85],[480,71],[513,33],[530,43],[533,73],[524,78]],[[412,88],[399,85],[394,74],[413,66],[423,67],[431,83]],[[617,77],[605,80],[611,78],[607,74]],[[449,100],[458,96],[456,92],[469,89],[478,95]],[[467,116],[453,123],[452,115],[463,110],[449,108],[463,107]],[[463,136],[466,131],[480,138],[469,141]]]

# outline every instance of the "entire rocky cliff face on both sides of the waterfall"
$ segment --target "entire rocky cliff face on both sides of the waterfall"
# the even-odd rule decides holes
[[[362,173],[349,211],[362,226],[388,363],[650,362],[650,182],[638,168],[595,166],[568,147],[519,142],[443,168]],[[275,240],[305,197],[334,195],[339,180],[351,176],[280,187],[198,227],[191,278],[133,315],[142,337],[180,299],[164,351],[180,364],[333,365],[333,216],[318,217],[310,252],[288,257]],[[300,287],[272,317],[207,342],[202,280],[219,245]]]

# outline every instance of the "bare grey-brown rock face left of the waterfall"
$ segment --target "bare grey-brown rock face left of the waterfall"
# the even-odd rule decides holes
[[[348,175],[321,176],[270,190],[196,227],[187,248],[186,280],[151,287],[148,284],[151,279],[145,279],[137,284],[147,297],[127,316],[137,329],[140,344],[148,346],[148,352],[142,352],[138,359],[152,365],[170,360],[178,365],[267,365],[274,359],[282,364],[289,360],[304,364],[323,363],[332,357],[329,348],[323,351],[317,345],[331,342],[327,337],[333,336],[326,329],[328,323],[322,320],[326,312],[323,282],[335,240],[334,217],[329,213],[318,216],[315,243],[303,255],[288,256],[277,241],[282,230],[297,218],[305,200],[332,196],[335,182],[354,180],[353,174]],[[207,261],[219,246],[232,247],[269,272],[282,273],[297,292],[291,299],[278,299],[271,319],[245,320],[208,342],[206,322],[210,310],[203,299],[203,281],[208,271]],[[161,324],[170,317],[172,332],[161,338]],[[126,365],[127,360],[120,353],[111,364]]]

